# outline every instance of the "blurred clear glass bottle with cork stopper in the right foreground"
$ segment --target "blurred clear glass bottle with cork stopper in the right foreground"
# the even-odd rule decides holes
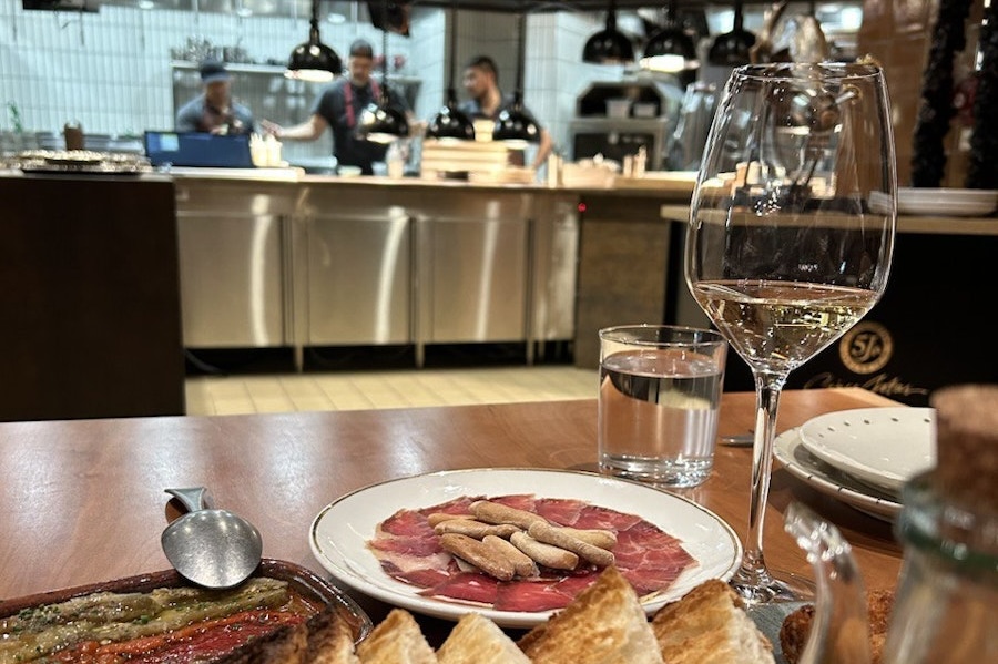
[[[887,664],[998,662],[998,386],[937,390],[936,468],[910,480]]]

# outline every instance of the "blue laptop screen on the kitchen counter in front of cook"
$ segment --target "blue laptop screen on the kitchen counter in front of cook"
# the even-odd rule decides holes
[[[248,134],[147,131],[144,146],[145,156],[153,166],[253,167]]]

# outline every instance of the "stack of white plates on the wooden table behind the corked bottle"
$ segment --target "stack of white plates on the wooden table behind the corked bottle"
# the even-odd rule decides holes
[[[931,408],[842,410],[781,435],[775,456],[815,489],[893,520],[905,482],[936,463],[935,432]]]

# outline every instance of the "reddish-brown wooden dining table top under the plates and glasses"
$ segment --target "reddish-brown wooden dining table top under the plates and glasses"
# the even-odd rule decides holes
[[[833,410],[896,402],[857,388],[784,394],[780,430]],[[754,397],[724,395],[721,433],[744,432]],[[166,487],[206,486],[217,507],[261,530],[264,555],[323,572],[313,518],[344,493],[391,478],[482,467],[595,469],[594,399],[339,412],[0,423],[0,601],[169,568],[160,549]],[[678,491],[744,537],[747,448],[720,447],[711,478]],[[890,525],[773,476],[766,556],[811,575],[783,532],[800,499],[849,540],[869,589],[893,588],[900,562]],[[356,596],[356,595],[355,595]],[[357,597],[375,622],[387,607]],[[449,624],[425,620],[430,635]],[[446,632],[445,632],[446,633]],[[434,640],[430,636],[431,641]]]

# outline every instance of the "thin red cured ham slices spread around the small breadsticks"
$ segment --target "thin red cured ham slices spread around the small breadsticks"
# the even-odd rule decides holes
[[[440,512],[468,514],[476,500],[533,512],[556,525],[617,533],[614,564],[639,596],[666,590],[684,570],[696,564],[679,539],[641,517],[582,500],[532,494],[468,496],[419,510],[399,510],[378,525],[368,546],[386,574],[421,589],[420,595],[491,606],[497,611],[563,609],[595,581],[600,569],[589,564],[567,573],[540,566],[538,576],[512,581],[498,581],[468,571],[465,563],[458,564],[440,545],[428,517]]]

